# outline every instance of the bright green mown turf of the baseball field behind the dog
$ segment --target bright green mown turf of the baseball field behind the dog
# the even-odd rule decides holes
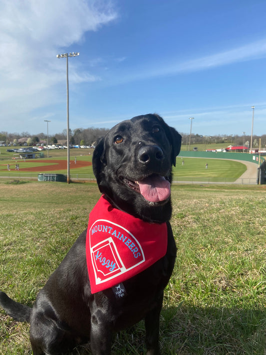
[[[3,150],[3,148],[1,148]],[[6,149],[5,149],[6,150]],[[71,149],[70,160],[76,157],[77,160],[89,161],[92,160],[92,149]],[[88,155],[88,153],[91,153]],[[47,154],[47,153],[45,153]],[[53,160],[63,159],[66,160],[66,150],[52,150],[49,153],[50,162],[52,164]],[[38,173],[42,173],[41,164],[47,165],[47,163],[37,163],[34,159],[28,159],[25,162],[21,159],[13,160],[13,153],[2,152],[0,158],[0,176],[5,177],[32,177],[37,178]],[[46,158],[46,156],[45,156]],[[182,165],[182,160],[184,160],[184,165]],[[17,172],[14,170],[15,164],[19,163],[20,170]],[[205,164],[208,163],[208,169],[205,168]],[[10,164],[11,171],[7,171],[6,165]],[[34,167],[39,166],[39,172],[24,172],[23,167]],[[51,168],[49,173],[66,174],[66,169],[56,170],[56,165],[54,169]],[[74,164],[70,164],[70,174],[72,179],[93,179],[94,175],[92,172],[92,166],[83,168],[73,168]],[[200,158],[182,158],[182,152],[179,157],[177,157],[177,165],[173,168],[173,180],[174,181],[211,181],[211,182],[234,182],[238,179],[245,171],[247,167],[241,162],[236,162],[234,160],[223,160],[223,159],[200,159]],[[46,173],[46,171],[44,171]],[[48,172],[47,172],[48,173]]]

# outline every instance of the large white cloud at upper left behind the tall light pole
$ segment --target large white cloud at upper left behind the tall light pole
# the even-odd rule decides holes
[[[10,117],[12,111],[15,120],[63,99],[54,88],[65,82],[65,59],[58,60],[56,54],[82,43],[86,31],[96,31],[116,17],[110,1],[0,0],[2,115]],[[75,59],[69,61],[74,83],[100,80]]]

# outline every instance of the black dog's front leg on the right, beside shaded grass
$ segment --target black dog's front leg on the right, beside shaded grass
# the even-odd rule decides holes
[[[163,305],[163,293],[158,299],[157,306],[145,317],[147,355],[160,355],[159,328],[160,313]]]

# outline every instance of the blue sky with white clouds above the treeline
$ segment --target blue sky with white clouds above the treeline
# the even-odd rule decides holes
[[[0,131],[110,128],[157,112],[178,131],[266,134],[265,0],[0,0]]]

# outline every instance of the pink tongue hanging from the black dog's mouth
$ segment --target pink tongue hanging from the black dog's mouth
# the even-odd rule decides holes
[[[138,181],[141,195],[150,202],[166,200],[170,194],[170,182],[163,176],[154,175]]]

